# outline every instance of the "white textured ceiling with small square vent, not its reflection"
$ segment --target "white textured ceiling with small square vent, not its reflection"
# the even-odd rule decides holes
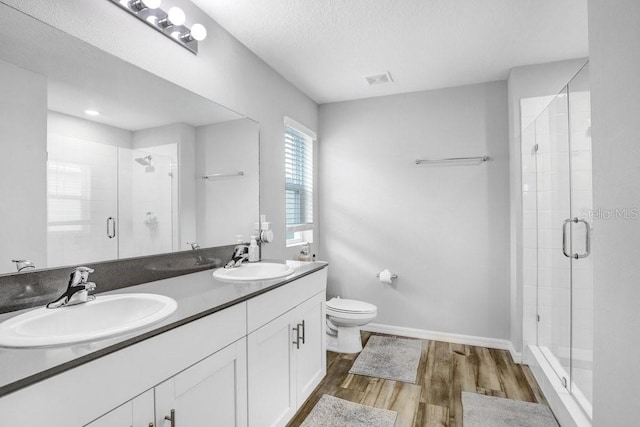
[[[192,0],[322,104],[588,56],[587,0]],[[389,71],[393,83],[365,76]]]

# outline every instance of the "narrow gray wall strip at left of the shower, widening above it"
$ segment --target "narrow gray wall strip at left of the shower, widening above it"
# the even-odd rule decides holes
[[[550,62],[546,64],[516,67],[509,73],[507,80],[509,97],[509,182],[510,182],[510,218],[511,218],[511,332],[510,339],[516,350],[522,350],[523,344],[523,316],[524,327],[531,329],[530,318],[535,318],[535,305],[523,310],[523,210],[522,210],[522,150],[520,100],[533,97],[555,95],[571,80],[571,78],[585,64],[586,58],[567,61]],[[538,106],[538,114],[546,105]],[[535,117],[536,113],[528,112]],[[528,311],[527,311],[528,310]],[[534,325],[535,326],[535,325]]]

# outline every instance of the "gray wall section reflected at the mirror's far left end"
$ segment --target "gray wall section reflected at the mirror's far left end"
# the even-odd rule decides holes
[[[12,259],[47,260],[47,79],[0,61],[0,272]],[[11,177],[11,179],[7,179]],[[24,207],[24,209],[18,209]]]

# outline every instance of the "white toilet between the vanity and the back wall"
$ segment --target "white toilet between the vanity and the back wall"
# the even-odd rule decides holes
[[[362,301],[331,298],[327,301],[327,350],[337,353],[362,351],[360,327],[376,318],[378,308]]]

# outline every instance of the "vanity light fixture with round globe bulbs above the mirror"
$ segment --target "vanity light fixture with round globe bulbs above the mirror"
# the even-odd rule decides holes
[[[174,6],[165,12],[160,8],[161,0],[109,1],[196,55],[198,54],[198,42],[207,37],[207,29],[204,25],[193,24],[191,28],[186,27],[184,24],[187,17],[184,11]]]

